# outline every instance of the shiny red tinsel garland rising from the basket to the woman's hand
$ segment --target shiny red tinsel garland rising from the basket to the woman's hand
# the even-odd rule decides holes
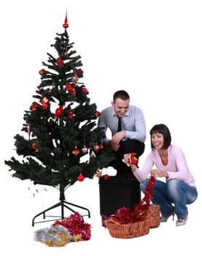
[[[142,198],[140,202],[134,206],[133,210],[125,207],[119,208],[114,214],[113,219],[116,222],[120,222],[120,224],[140,222],[143,219],[143,211],[149,207],[152,200],[152,187],[155,184],[155,180],[155,177],[151,177],[149,179],[144,198]]]

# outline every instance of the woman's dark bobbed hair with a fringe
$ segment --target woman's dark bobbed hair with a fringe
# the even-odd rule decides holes
[[[163,148],[168,148],[168,146],[171,145],[171,132],[169,131],[168,127],[166,127],[165,124],[156,124],[152,129],[150,130],[150,136],[151,136],[151,147],[152,149],[155,148],[152,144],[152,134],[154,133],[160,133],[163,135]]]

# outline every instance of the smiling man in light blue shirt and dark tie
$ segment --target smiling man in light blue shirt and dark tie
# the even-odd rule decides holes
[[[108,166],[117,170],[117,176],[133,176],[131,168],[123,162],[123,154],[136,152],[139,158],[144,153],[146,127],[140,108],[129,105],[130,97],[126,91],[116,91],[112,106],[104,109],[98,118],[98,127],[109,128],[112,138],[105,138],[104,145],[110,146],[115,159]]]

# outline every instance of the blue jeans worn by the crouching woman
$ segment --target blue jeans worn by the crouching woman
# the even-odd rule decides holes
[[[145,192],[149,178],[141,182],[140,188]],[[187,217],[187,205],[193,203],[198,197],[195,187],[188,185],[184,181],[170,179],[167,183],[156,180],[152,187],[152,203],[160,206],[160,212],[163,217],[168,216],[175,209],[178,219]],[[174,206],[172,206],[172,203]]]

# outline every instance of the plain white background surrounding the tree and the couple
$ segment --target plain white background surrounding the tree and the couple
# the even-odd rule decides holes
[[[201,1],[66,0],[6,1],[0,4],[1,26],[1,252],[4,255],[190,255],[201,248]],[[82,56],[83,81],[98,110],[110,105],[112,94],[125,89],[131,104],[144,112],[149,129],[164,123],[172,143],[182,148],[198,187],[189,206],[186,226],[169,220],[147,236],[116,239],[101,227],[98,180],[75,184],[66,200],[90,209],[90,241],[51,248],[33,240],[31,219],[58,202],[58,191],[35,187],[10,176],[4,159],[15,155],[14,135],[20,133],[40,83],[39,70],[56,32],[63,32],[66,14],[69,37]],[[25,136],[27,136],[25,134]],[[28,189],[30,187],[30,189]],[[35,197],[33,196],[35,194]],[[59,209],[58,209],[59,211]],[[69,213],[67,213],[69,214]],[[196,234],[199,231],[199,234]]]

